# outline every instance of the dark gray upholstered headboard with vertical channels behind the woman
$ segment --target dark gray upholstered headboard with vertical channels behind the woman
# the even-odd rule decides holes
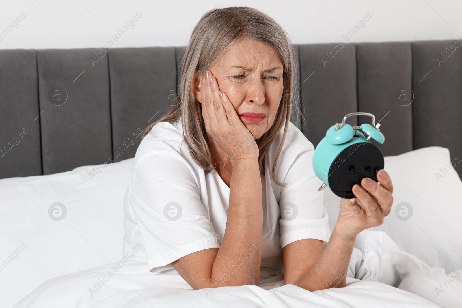
[[[385,156],[440,145],[450,149],[451,160],[462,157],[460,43],[294,48],[302,131],[315,146],[344,115],[364,111],[382,119]],[[132,138],[172,104],[182,50],[0,50],[0,178],[134,157],[140,137]],[[461,164],[455,168],[460,176]]]

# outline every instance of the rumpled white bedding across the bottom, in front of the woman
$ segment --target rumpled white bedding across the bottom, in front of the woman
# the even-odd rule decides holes
[[[372,248],[364,254],[365,247]],[[109,264],[51,279],[13,308],[462,307],[462,282],[451,278],[460,277],[462,266],[446,275],[399,250],[382,231],[365,230],[357,236],[350,265],[345,288],[310,292],[283,285],[280,274],[261,279],[259,286],[192,290],[175,270],[151,273],[145,262],[128,261],[117,272]],[[109,272],[114,276],[109,278]],[[101,288],[95,287],[103,278]]]

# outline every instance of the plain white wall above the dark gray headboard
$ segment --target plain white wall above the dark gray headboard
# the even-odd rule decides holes
[[[350,42],[462,38],[460,0],[1,0],[0,49],[182,46],[205,11],[253,6],[275,18],[293,43],[339,42],[368,12]],[[15,18],[27,14],[18,26]],[[111,38],[140,12],[117,42]],[[23,13],[23,15],[24,15]],[[19,18],[21,19],[21,18]],[[13,25],[16,27],[10,27]],[[358,28],[357,28],[358,29]],[[5,33],[5,32],[4,32]],[[461,38],[458,38],[461,36]]]

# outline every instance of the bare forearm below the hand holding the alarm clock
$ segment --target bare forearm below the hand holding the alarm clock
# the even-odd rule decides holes
[[[344,287],[355,239],[340,237],[334,228],[319,259],[294,285],[309,291]]]

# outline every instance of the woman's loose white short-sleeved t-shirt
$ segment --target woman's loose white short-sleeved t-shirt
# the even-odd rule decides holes
[[[326,244],[331,235],[323,192],[318,192],[322,181],[312,168],[314,146],[292,122],[275,172],[287,185],[272,180],[283,129],[265,154],[261,175],[261,271],[267,277],[284,271],[282,248],[287,244],[309,238]],[[229,195],[230,188],[216,170],[206,176],[193,161],[181,119],[173,125],[157,123],[142,139],[131,166],[124,197],[123,254],[141,243],[135,259],[147,262],[151,272],[160,272],[173,269],[171,262],[187,254],[219,248]]]

